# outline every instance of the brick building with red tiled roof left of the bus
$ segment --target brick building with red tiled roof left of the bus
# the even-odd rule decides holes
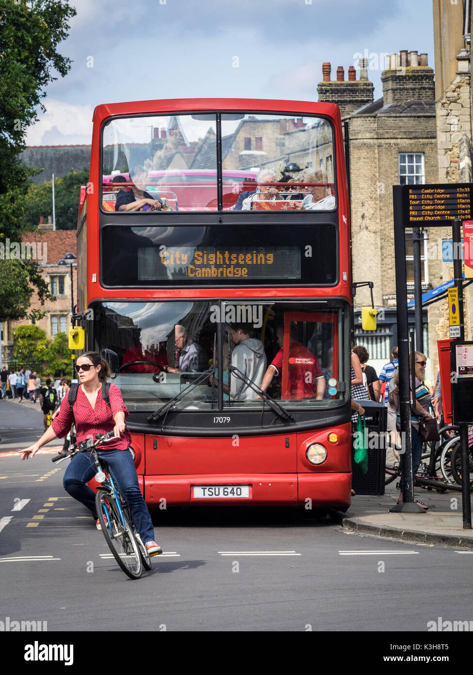
[[[51,229],[48,229],[51,227]],[[58,265],[64,259],[65,254],[72,253],[77,256],[76,232],[70,230],[55,230],[52,225],[40,225],[37,232],[26,232],[22,243],[30,246],[32,261],[40,265],[49,290],[55,294],[56,300],[47,300],[41,306],[38,294],[34,292],[31,299],[30,310],[39,309],[46,314],[36,324],[45,330],[48,338],[53,338],[56,333],[67,333],[71,325],[71,271],[70,264]],[[36,252],[36,256],[34,255]],[[74,298],[77,298],[77,265],[73,261]],[[3,335],[1,340],[3,365],[9,365],[13,352],[13,333],[17,326],[30,324],[29,319],[21,321],[7,321],[3,323]]]

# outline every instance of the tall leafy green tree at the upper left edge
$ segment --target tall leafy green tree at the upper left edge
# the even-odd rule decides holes
[[[67,37],[69,20],[76,15],[67,0],[0,0],[0,242],[21,241],[28,230],[25,221],[25,195],[28,176],[35,173],[18,160],[25,147],[26,130],[36,121],[37,110],[45,111],[42,100],[45,87],[56,80],[54,73],[65,76],[71,66],[57,47]],[[30,225],[34,229],[37,223]],[[28,314],[25,304],[27,286],[38,288],[44,302],[47,289],[42,285],[37,267],[16,261],[3,265],[1,277],[13,275],[9,284],[8,304],[2,308],[3,319]],[[36,284],[39,283],[39,286]],[[17,295],[18,297],[13,297]],[[30,296],[33,292],[31,290]],[[3,293],[3,290],[2,290]],[[11,308],[10,315],[5,307]]]

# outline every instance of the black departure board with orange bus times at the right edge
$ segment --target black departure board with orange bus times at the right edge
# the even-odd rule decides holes
[[[470,184],[404,186],[410,223],[470,220]]]

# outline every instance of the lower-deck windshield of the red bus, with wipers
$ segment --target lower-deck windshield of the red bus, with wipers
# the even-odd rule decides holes
[[[260,389],[295,410],[346,401],[349,321],[341,300],[94,302],[93,308],[96,346],[130,412],[157,410],[176,396],[175,409],[183,412],[258,410]]]

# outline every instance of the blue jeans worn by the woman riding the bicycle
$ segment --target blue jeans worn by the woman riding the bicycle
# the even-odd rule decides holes
[[[138,476],[132,454],[128,450],[97,450],[99,457],[109,464],[114,481],[117,482],[121,494],[126,499],[132,513],[133,522],[146,544],[155,539],[155,529],[152,526],[146,502],[138,487]],[[96,469],[90,452],[77,454],[67,466],[64,473],[64,489],[71,497],[77,499],[97,518],[95,508],[95,493],[87,483],[95,475]]]

